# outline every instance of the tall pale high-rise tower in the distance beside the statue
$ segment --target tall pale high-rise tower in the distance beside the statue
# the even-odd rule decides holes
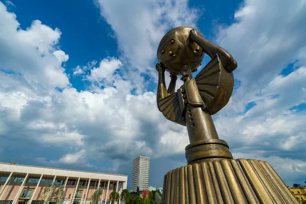
[[[133,160],[133,191],[137,187],[140,191],[149,189],[150,158],[145,155]]]

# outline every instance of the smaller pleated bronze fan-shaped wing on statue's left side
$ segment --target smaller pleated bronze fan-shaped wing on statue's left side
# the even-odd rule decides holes
[[[173,122],[186,125],[182,111],[182,98],[179,98],[177,92],[172,93],[159,101],[159,106],[163,115]]]

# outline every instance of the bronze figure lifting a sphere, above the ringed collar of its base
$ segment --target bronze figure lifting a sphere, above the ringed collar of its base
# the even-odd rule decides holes
[[[177,52],[172,54],[174,50]],[[197,70],[205,53],[212,60],[193,78],[192,72]],[[159,110],[167,119],[187,126],[190,142],[218,139],[211,115],[221,110],[232,95],[236,60],[191,27],[169,31],[159,45],[158,59],[161,63],[156,65]],[[165,69],[171,77],[168,90]],[[176,74],[182,75],[184,85],[174,92]]]

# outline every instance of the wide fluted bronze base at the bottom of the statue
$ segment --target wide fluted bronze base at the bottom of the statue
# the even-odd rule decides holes
[[[267,162],[213,158],[169,171],[162,203],[299,202]]]

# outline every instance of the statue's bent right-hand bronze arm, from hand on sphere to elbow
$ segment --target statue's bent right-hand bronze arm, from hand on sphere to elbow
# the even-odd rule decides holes
[[[189,37],[192,41],[196,42],[200,47],[202,47],[203,52],[209,55],[210,58],[215,58],[217,54],[222,62],[223,67],[227,71],[232,72],[237,68],[237,62],[230,53],[228,53],[222,47],[203,38],[196,32],[196,30],[191,30],[189,33]]]

